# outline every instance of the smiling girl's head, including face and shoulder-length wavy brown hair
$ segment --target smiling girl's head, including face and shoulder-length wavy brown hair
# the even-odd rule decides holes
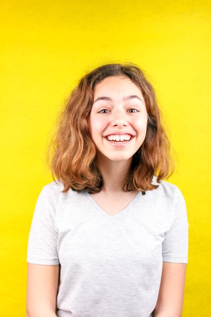
[[[124,132],[134,138],[121,148],[104,138]],[[131,158],[126,190],[144,193],[156,187],[151,184],[153,175],[159,182],[173,173],[170,143],[161,126],[154,90],[134,64],[102,65],[81,78],[58,117],[47,162],[53,178],[64,183],[64,191],[94,193],[103,185],[97,153],[115,161]]]

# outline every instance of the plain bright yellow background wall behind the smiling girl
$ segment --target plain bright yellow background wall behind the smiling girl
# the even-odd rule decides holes
[[[25,316],[26,250],[56,113],[87,70],[134,62],[164,113],[189,220],[183,317],[210,314],[209,1],[4,0],[1,5],[1,314]],[[100,317],[100,316],[99,316]]]

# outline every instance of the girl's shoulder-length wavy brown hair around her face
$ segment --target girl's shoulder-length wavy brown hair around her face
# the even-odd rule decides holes
[[[175,169],[171,145],[161,124],[155,92],[143,70],[136,64],[105,64],[80,78],[58,113],[55,132],[47,149],[46,162],[55,176],[64,184],[62,192],[71,188],[80,192],[99,192],[103,186],[102,174],[96,164],[96,147],[90,136],[88,118],[94,101],[94,88],[108,76],[128,76],[141,90],[148,113],[146,137],[133,155],[123,191],[138,190],[145,194],[159,185],[153,185],[170,177]],[[124,189],[126,186],[126,190]]]

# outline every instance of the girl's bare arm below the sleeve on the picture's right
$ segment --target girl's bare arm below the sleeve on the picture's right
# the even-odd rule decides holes
[[[182,316],[186,267],[186,263],[163,262],[155,317]]]

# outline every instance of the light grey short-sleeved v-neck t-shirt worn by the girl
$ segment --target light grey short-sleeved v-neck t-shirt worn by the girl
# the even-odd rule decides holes
[[[29,263],[60,264],[57,316],[153,316],[162,261],[188,262],[180,189],[162,181],[111,216],[86,190],[57,183],[38,196],[27,250]]]

